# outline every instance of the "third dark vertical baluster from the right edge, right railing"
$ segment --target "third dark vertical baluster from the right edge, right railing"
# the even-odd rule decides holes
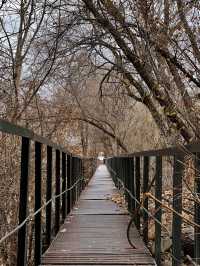
[[[155,197],[162,201],[162,157],[156,157]],[[162,209],[155,201],[155,218],[161,223]],[[157,265],[161,264],[161,225],[155,221],[155,259]]]

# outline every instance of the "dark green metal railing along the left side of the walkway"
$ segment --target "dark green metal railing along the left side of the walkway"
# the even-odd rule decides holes
[[[27,265],[27,223],[34,219],[34,263],[40,265],[42,248],[42,217],[45,210],[45,246],[49,247],[53,237],[58,233],[61,224],[70,213],[72,207],[84,189],[83,159],[74,156],[63,147],[46,138],[34,134],[32,131],[0,120],[0,132],[19,136],[21,138],[20,161],[20,191],[18,226],[1,240],[18,233],[17,266]],[[30,149],[34,146],[34,151]],[[42,158],[45,147],[46,158]],[[28,215],[28,184],[30,155],[34,152],[35,187],[34,213]],[[43,161],[42,161],[43,160]],[[42,163],[46,165],[45,204],[42,205]],[[55,194],[53,195],[53,174],[55,174]],[[53,206],[54,203],[54,206]],[[54,213],[52,213],[54,207]],[[52,219],[52,214],[54,219]],[[53,224],[54,221],[54,224]],[[52,230],[53,228],[53,230]]]

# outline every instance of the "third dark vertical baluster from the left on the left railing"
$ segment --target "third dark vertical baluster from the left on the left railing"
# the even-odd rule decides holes
[[[47,146],[47,179],[46,179],[46,201],[52,197],[52,147]],[[51,208],[50,202],[46,206],[46,245],[47,248],[51,243]]]

